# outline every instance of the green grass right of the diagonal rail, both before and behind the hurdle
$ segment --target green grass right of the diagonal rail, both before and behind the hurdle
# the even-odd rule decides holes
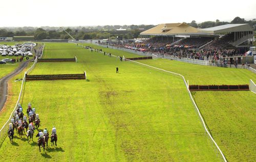
[[[165,59],[140,60],[182,74],[189,84],[249,84],[256,75],[244,69],[194,65]],[[256,95],[251,91],[194,91],[195,101],[229,161],[255,161]]]

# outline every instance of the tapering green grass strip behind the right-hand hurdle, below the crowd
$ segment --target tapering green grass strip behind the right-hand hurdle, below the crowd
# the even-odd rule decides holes
[[[139,62],[182,74],[190,85],[249,84],[250,79],[256,82],[256,75],[246,69],[204,66],[166,59]]]

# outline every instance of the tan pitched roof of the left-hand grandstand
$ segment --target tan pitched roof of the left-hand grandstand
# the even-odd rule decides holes
[[[141,32],[140,35],[189,35],[197,34],[197,28],[183,23],[159,24],[158,26]]]

